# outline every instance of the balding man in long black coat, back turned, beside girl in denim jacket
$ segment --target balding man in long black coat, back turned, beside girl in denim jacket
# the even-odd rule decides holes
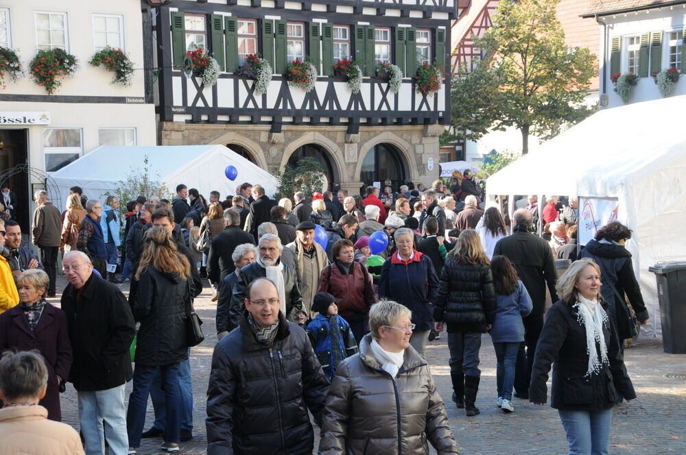
[[[522,208],[512,216],[512,235],[501,238],[495,244],[493,255],[501,254],[508,258],[519,279],[523,282],[534,304],[534,309],[524,321],[524,345],[519,348],[517,367],[514,371],[514,391],[519,398],[528,398],[531,369],[534,365],[536,343],[543,329],[545,313],[545,286],[547,284],[552,301],[557,301],[555,282],[557,272],[552,251],[543,238],[530,232],[533,223],[532,214]]]

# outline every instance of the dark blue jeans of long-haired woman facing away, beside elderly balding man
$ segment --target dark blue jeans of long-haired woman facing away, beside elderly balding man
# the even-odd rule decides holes
[[[129,408],[126,414],[130,447],[140,447],[141,434],[145,426],[145,409],[147,395],[154,376],[161,378],[164,391],[165,415],[167,424],[164,427],[164,440],[167,443],[178,443],[181,432],[181,394],[179,390],[179,363],[148,367],[136,364],[133,372],[133,390],[129,396]]]

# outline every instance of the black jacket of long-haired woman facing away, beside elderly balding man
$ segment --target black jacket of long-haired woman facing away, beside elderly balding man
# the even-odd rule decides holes
[[[193,297],[191,280],[152,265],[141,271],[133,302],[134,317],[141,322],[136,365],[159,367],[188,358],[185,317],[187,302]]]

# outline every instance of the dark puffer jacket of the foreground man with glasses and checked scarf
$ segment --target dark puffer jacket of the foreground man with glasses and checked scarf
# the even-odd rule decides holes
[[[305,330],[279,314],[271,349],[243,316],[217,343],[207,389],[207,454],[310,454],[329,381]]]

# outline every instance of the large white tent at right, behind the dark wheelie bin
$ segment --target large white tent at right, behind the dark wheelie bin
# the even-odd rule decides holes
[[[617,219],[633,230],[626,247],[661,333],[657,285],[648,267],[686,259],[686,96],[601,110],[490,176],[495,195],[616,197]]]

